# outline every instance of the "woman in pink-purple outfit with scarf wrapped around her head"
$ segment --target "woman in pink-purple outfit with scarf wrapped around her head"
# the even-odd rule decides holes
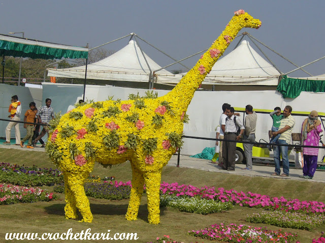
[[[313,110],[304,120],[301,128],[302,145],[319,146],[319,134],[322,132],[318,112]],[[303,148],[304,166],[301,176],[305,179],[312,179],[317,168],[318,148]]]

